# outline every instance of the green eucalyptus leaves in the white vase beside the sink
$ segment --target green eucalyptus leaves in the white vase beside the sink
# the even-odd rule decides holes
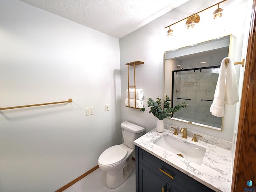
[[[182,102],[182,105],[178,104],[174,106],[174,108],[170,107],[170,98],[168,95],[164,97],[164,108],[162,109],[161,101],[162,99],[156,98],[156,102],[152,100],[152,98],[148,98],[147,106],[150,107],[150,111],[148,113],[152,113],[159,120],[164,120],[164,118],[171,117],[175,112],[186,108],[187,105],[185,102]],[[140,109],[142,112],[145,111],[145,108]]]

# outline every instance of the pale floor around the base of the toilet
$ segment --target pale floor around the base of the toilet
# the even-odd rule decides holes
[[[131,161],[132,174],[118,188],[110,189],[106,186],[106,172],[100,168],[94,170],[64,192],[135,192],[135,162]]]

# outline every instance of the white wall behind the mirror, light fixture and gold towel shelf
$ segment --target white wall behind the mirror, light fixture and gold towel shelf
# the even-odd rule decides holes
[[[228,0],[220,4],[220,8],[224,9],[224,23],[222,27],[216,24],[210,25],[213,21],[212,12],[217,9],[216,6],[199,14],[201,20],[197,31],[190,32],[185,27],[186,21],[182,21],[172,27],[174,30],[172,38],[167,37],[166,32],[168,29],[164,29],[164,27],[218,2],[218,0],[190,0],[182,6],[120,39],[122,121],[128,120],[139,124],[146,128],[146,132],[156,127],[156,118],[152,114],[149,114],[147,111],[140,112],[139,110],[126,108],[124,106],[124,100],[126,98],[125,91],[128,82],[127,69],[126,66],[124,66],[124,63],[136,60],[144,61],[143,65],[136,67],[136,87],[144,90],[144,101],[146,103],[148,98],[156,98],[158,96],[163,98],[165,51],[232,34],[236,37],[236,45],[233,45],[236,47],[236,53],[232,53],[232,55],[234,55],[232,58],[235,62],[242,60],[241,53],[244,41],[244,31],[248,32],[248,29],[244,29],[247,0]],[[248,12],[251,12],[251,9],[248,9]],[[239,17],[237,16],[237,13],[239,13]],[[247,42],[244,42],[244,44],[247,45]],[[144,106],[146,106],[146,104],[144,104]],[[223,127],[223,131],[220,132],[214,129],[206,129],[204,127],[190,125],[188,123],[182,123],[167,118],[164,122],[187,127],[193,131],[212,135],[228,141],[232,141],[233,138],[234,129],[225,129],[225,127]]]

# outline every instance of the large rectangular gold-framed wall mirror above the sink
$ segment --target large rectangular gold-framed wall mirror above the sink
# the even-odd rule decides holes
[[[231,35],[165,52],[164,94],[172,106],[186,102],[188,108],[172,119],[222,130],[223,118],[210,113],[220,63],[230,53]]]

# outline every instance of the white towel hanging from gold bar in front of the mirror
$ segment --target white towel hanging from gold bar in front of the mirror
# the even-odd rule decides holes
[[[226,58],[228,58],[227,67],[225,65]],[[210,112],[216,117],[225,116],[224,104],[234,105],[239,101],[234,62],[230,57],[226,58],[224,58],[220,64],[220,74],[214,93],[214,99],[210,107]]]

